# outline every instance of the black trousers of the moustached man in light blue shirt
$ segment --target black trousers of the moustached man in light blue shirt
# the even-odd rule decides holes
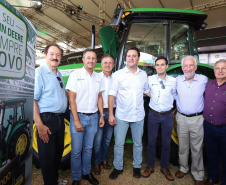
[[[64,151],[64,117],[43,113],[41,119],[51,131],[48,143],[44,143],[37,133],[39,163],[44,185],[57,185],[58,169]]]

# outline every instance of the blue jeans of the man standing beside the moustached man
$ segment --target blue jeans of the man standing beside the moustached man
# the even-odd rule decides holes
[[[97,113],[87,116],[78,113],[83,131],[75,130],[74,119],[70,114],[71,130],[71,172],[73,180],[80,180],[82,174],[87,175],[91,171],[91,156],[94,136],[97,132]]]

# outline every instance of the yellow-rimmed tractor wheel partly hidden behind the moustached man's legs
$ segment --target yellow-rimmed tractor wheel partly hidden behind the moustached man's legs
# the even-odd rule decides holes
[[[70,132],[70,122],[67,119],[64,119],[65,125],[65,134],[64,134],[64,151],[61,158],[61,168],[67,168],[70,165],[71,158],[71,132]],[[32,161],[37,168],[39,165],[39,156],[38,156],[38,144],[37,144],[37,128],[35,123],[33,124],[33,142],[32,142]]]

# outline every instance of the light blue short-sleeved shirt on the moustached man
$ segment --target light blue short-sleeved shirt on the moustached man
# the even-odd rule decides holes
[[[57,76],[61,78],[63,88]],[[61,73],[57,70],[57,75],[43,65],[35,70],[35,90],[34,99],[38,101],[39,112],[65,113],[67,108],[67,97]]]

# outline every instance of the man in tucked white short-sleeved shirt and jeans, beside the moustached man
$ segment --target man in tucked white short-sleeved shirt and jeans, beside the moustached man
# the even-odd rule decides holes
[[[71,130],[71,171],[72,185],[83,179],[90,184],[99,184],[91,173],[93,140],[98,127],[97,110],[101,114],[99,126],[104,126],[101,77],[94,71],[97,62],[96,52],[86,49],[83,52],[82,69],[71,73],[66,89],[69,90],[70,130]]]

